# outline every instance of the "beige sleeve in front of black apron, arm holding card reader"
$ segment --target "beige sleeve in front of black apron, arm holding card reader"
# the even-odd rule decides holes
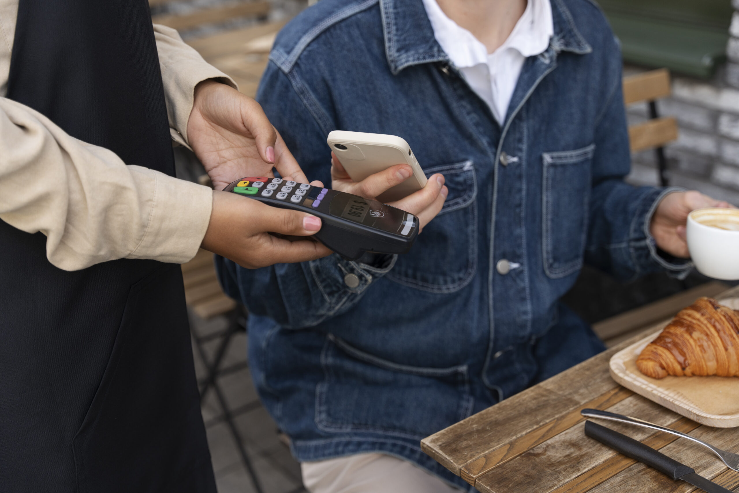
[[[106,260],[186,262],[200,247],[212,191],[67,135],[0,98],[0,220],[47,236],[65,271]]]

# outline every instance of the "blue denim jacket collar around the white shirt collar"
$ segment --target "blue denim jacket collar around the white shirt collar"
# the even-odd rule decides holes
[[[551,0],[554,36],[549,41],[555,52],[585,54],[592,48],[575,27],[572,15],[562,0]],[[434,37],[423,2],[380,0],[387,63],[394,75],[412,65],[435,61],[449,62],[446,52]]]

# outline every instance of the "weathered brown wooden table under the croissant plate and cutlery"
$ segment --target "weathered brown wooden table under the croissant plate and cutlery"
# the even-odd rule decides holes
[[[716,297],[735,296],[739,288]],[[480,492],[701,492],[585,436],[580,409],[592,407],[689,432],[721,449],[739,452],[739,428],[701,426],[610,378],[610,357],[640,337],[424,438],[423,451]],[[676,441],[673,435],[638,426],[598,422],[661,449],[699,475],[739,492],[739,472],[697,443]]]

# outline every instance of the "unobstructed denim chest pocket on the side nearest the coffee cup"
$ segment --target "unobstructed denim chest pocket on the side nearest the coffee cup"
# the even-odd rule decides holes
[[[595,149],[591,144],[542,154],[542,253],[544,271],[551,279],[582,268]]]

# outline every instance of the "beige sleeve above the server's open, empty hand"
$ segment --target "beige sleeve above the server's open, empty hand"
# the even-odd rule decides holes
[[[177,30],[154,24],[154,38],[157,40],[172,140],[189,149],[187,120],[192,110],[195,86],[208,79],[218,79],[234,89],[239,88],[233,79],[208,64],[200,53],[185,44]]]

